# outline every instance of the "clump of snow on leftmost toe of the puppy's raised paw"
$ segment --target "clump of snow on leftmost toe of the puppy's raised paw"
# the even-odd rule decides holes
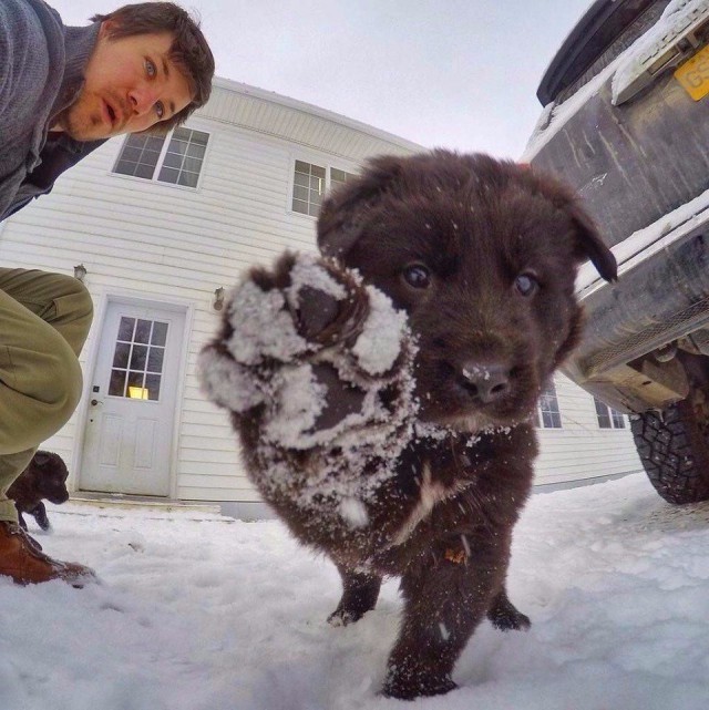
[[[197,367],[202,390],[213,402],[233,412],[245,412],[264,401],[253,372],[216,348],[203,350]]]

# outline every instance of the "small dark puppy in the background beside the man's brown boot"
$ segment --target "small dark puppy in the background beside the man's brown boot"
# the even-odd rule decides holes
[[[23,513],[32,515],[43,529],[50,529],[47,508],[43,498],[59,505],[69,500],[66,477],[69,471],[59,454],[49,451],[38,451],[28,467],[16,479],[8,490],[8,497],[14,501],[19,523],[27,529]]]

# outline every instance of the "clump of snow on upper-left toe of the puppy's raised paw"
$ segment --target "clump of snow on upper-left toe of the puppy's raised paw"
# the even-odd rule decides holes
[[[263,291],[253,281],[237,287],[228,306],[234,332],[226,346],[238,362],[258,364],[264,357],[287,362],[308,349],[285,305],[278,290]]]

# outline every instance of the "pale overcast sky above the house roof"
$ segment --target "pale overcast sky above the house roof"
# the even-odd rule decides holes
[[[49,0],[85,24],[122,0]],[[536,89],[592,0],[183,0],[217,74],[425,147],[517,158]]]

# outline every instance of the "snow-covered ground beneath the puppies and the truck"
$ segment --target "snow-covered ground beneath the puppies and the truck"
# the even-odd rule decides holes
[[[0,582],[0,710],[706,710],[709,504],[675,508],[643,475],[537,494],[510,590],[532,630],[484,622],[453,693],[379,697],[397,585],[359,624],[325,621],[337,573],[275,521],[49,511],[30,532],[102,584]]]

